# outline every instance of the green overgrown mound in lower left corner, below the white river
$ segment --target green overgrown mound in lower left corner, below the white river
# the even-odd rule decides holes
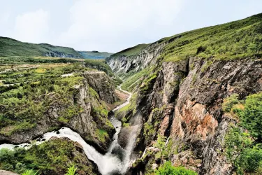
[[[17,148],[15,151],[0,150],[0,169],[18,174],[72,174],[78,169],[92,174],[92,167],[85,162],[85,154],[78,151],[73,141],[52,139],[41,145],[34,145],[28,150]],[[70,167],[67,169],[67,167]],[[31,170],[27,170],[31,169]],[[76,174],[75,174],[76,175]]]

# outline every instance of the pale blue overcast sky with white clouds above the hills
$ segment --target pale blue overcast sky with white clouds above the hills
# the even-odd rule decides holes
[[[0,0],[0,36],[118,52],[262,13],[261,0]]]

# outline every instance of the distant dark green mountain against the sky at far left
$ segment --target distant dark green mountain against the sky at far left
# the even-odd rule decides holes
[[[47,43],[23,43],[12,38],[0,37],[0,57],[4,56],[45,56],[83,58],[73,48],[54,46]]]

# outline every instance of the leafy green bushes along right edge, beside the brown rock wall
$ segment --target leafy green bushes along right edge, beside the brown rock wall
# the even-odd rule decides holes
[[[249,95],[245,101],[239,101],[236,94],[224,100],[224,111],[240,119],[225,138],[226,156],[238,174],[261,174],[261,102],[262,92]]]

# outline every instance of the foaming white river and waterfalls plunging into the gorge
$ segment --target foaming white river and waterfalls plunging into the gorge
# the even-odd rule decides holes
[[[119,87],[121,90],[121,87]],[[123,90],[124,91],[124,90]],[[126,91],[124,91],[126,92]],[[129,94],[129,97],[127,101],[117,106],[112,111],[117,111],[118,109],[121,109],[122,107],[129,104],[129,101],[131,99],[131,93],[126,92]],[[133,151],[133,146],[136,142],[137,133],[140,130],[140,113],[136,113],[136,116],[134,116],[134,122],[132,125],[131,133],[129,134],[129,141],[127,142],[126,148],[122,148],[118,144],[118,134],[121,130],[122,123],[117,120],[114,116],[110,118],[110,122],[115,127],[116,133],[114,134],[113,141],[110,144],[110,147],[108,148],[108,153],[105,155],[102,155],[93,146],[90,146],[85,142],[82,137],[76,132],[73,132],[71,129],[67,127],[63,127],[59,130],[59,132],[48,132],[41,137],[41,139],[36,139],[38,141],[35,142],[35,144],[42,144],[43,141],[48,141],[51,137],[67,137],[68,139],[71,139],[72,141],[77,141],[84,149],[85,154],[87,155],[87,158],[89,160],[92,160],[99,168],[99,172],[103,175],[109,175],[109,174],[124,174],[126,170],[129,168],[131,164],[131,153]],[[39,141],[41,140],[41,141]],[[14,149],[15,147],[24,147],[24,148],[31,148],[30,144],[21,144],[18,146],[12,145],[12,144],[2,144],[0,145],[1,148],[9,148]]]

